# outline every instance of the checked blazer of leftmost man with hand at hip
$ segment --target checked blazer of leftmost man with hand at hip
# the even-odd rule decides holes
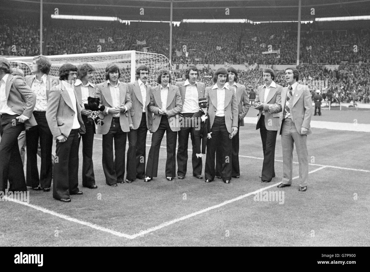
[[[29,119],[24,122],[26,130],[37,125],[33,117],[33,109],[36,105],[36,94],[27,86],[24,79],[18,75],[8,75],[5,87],[7,105],[16,114],[23,114]]]

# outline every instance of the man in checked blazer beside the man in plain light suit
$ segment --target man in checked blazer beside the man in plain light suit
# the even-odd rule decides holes
[[[258,86],[254,108],[259,110],[256,130],[259,129],[262,149],[262,183],[268,183],[275,177],[275,144],[277,131],[280,128],[280,113],[270,113],[270,105],[277,105],[281,100],[283,86],[275,83],[275,72],[271,68],[262,71],[265,84]]]

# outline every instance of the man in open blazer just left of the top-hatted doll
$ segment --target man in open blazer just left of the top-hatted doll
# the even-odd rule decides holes
[[[199,179],[202,179],[202,158],[196,157],[196,148],[195,142],[193,141],[193,126],[191,118],[194,113],[199,111],[198,98],[204,97],[204,83],[196,81],[198,78],[198,68],[196,66],[190,66],[186,69],[185,72],[186,80],[184,82],[176,83],[176,86],[179,87],[181,94],[182,110],[179,113],[180,118],[183,121],[181,122],[184,125],[180,126],[179,135],[179,145],[177,150],[177,177],[179,179],[184,179],[186,175],[186,168],[188,164],[188,141],[189,133],[192,139],[192,166],[193,166],[193,176]]]

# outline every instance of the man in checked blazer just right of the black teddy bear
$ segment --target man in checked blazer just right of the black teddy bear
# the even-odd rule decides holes
[[[128,111],[132,107],[127,84],[118,80],[120,68],[110,63],[105,68],[105,79],[96,86],[95,97],[105,106],[100,114],[104,124],[98,123],[98,134],[103,134],[102,165],[105,182],[113,187],[125,183],[125,150],[127,132],[130,131]],[[115,158],[113,158],[113,140]]]

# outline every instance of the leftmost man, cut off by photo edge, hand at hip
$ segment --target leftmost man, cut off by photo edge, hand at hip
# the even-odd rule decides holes
[[[0,58],[0,191],[27,191],[18,136],[36,125],[32,115],[36,95],[20,76],[11,74],[10,63]]]

